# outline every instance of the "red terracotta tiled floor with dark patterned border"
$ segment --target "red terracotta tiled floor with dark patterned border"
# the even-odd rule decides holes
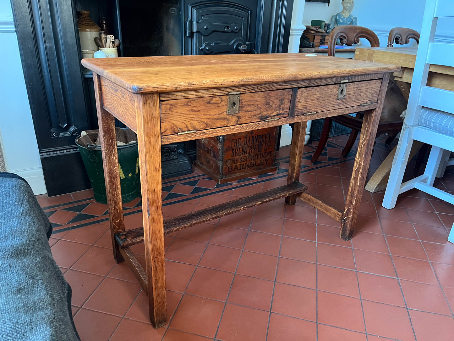
[[[309,191],[337,206],[354,157],[341,159],[345,139],[331,140],[314,166],[308,146],[301,170]],[[370,171],[387,151],[378,140]],[[166,180],[164,215],[281,186],[288,148],[277,161],[276,174],[224,186],[199,171]],[[454,172],[436,184],[454,191]],[[39,196],[54,223],[49,243],[72,286],[82,340],[453,340],[453,206],[416,190],[400,196],[394,210],[382,200],[383,193],[364,192],[348,242],[336,221],[283,200],[166,236],[170,322],[155,330],[145,294],[112,256],[107,207],[91,191]],[[140,209],[140,198],[124,204],[127,228],[141,226]],[[143,245],[132,249],[144,263]]]

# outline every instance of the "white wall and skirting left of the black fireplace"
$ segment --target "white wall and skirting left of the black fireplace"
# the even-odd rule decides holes
[[[0,0],[0,143],[6,170],[46,193],[9,0]]]

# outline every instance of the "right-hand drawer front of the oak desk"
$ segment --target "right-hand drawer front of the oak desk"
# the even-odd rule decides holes
[[[365,103],[376,103],[378,100],[381,80],[343,84],[346,84],[345,98],[340,100],[337,99],[338,84],[298,89],[295,115],[348,108]]]

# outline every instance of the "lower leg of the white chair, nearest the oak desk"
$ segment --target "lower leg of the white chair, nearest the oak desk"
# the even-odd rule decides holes
[[[403,129],[400,134],[400,141],[398,150],[396,151],[395,160],[390,171],[390,178],[388,185],[386,186],[385,196],[383,198],[382,206],[388,210],[394,208],[399,195],[400,186],[402,185],[402,179],[404,178],[405,167],[408,163],[411,146],[413,145],[413,139],[407,135],[411,134],[408,129]],[[404,141],[404,142],[402,142]]]

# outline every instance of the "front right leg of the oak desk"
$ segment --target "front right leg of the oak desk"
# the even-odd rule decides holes
[[[340,236],[348,241],[353,236],[353,229],[360,209],[361,197],[364,191],[367,172],[369,171],[372,148],[374,147],[375,135],[380,122],[381,109],[388,87],[390,74],[386,73],[380,86],[377,108],[367,110],[364,115],[363,126],[361,128],[358,151],[356,152],[355,165],[350,180],[350,188],[345,203],[345,211],[341,222]]]

